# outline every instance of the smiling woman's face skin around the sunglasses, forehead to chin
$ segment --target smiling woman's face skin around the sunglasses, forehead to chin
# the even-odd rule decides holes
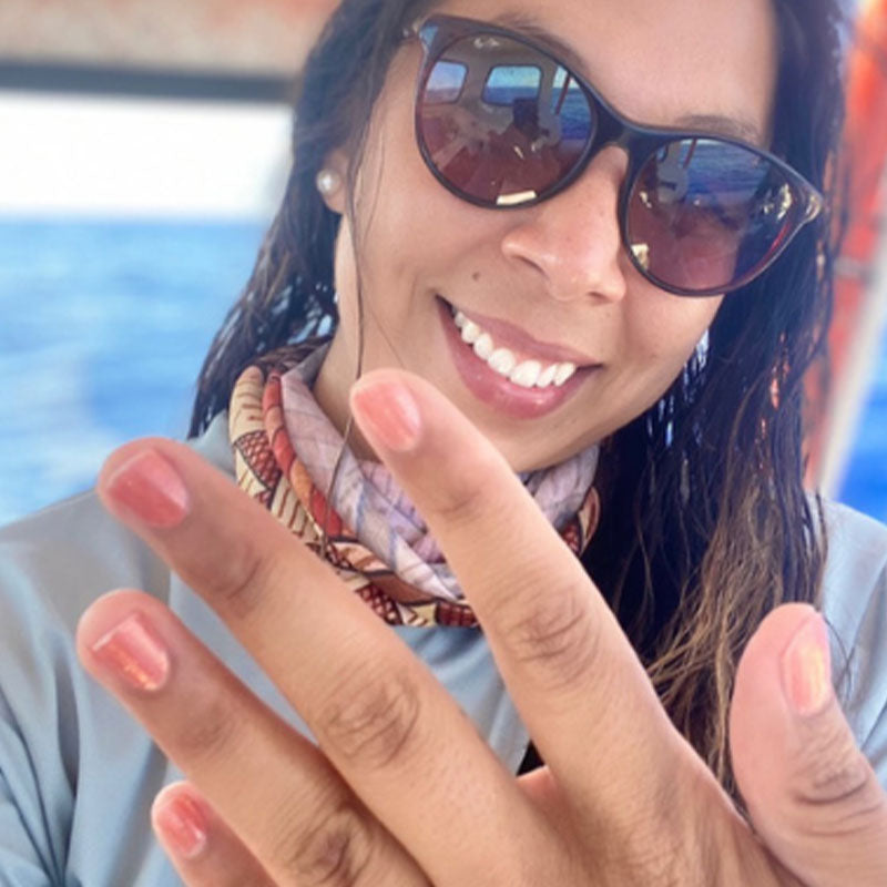
[[[449,0],[437,10],[531,19],[630,119],[766,140],[777,68],[769,0]],[[570,187],[530,207],[487,210],[442,187],[414,135],[420,61],[418,42],[405,45],[374,111],[356,216],[343,218],[336,245],[340,325],[316,395],[344,427],[360,347],[359,265],[364,370],[424,376],[514,470],[553,465],[654,404],[721,297],[670,295],[630,264],[616,221],[621,149],[604,149]],[[329,203],[341,212],[344,193]],[[448,305],[518,364],[580,369],[560,388],[516,385],[460,340]]]

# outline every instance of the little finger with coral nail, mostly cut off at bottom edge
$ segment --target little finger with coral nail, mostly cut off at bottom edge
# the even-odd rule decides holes
[[[156,796],[151,822],[187,887],[274,887],[244,843],[187,783],[169,785]]]

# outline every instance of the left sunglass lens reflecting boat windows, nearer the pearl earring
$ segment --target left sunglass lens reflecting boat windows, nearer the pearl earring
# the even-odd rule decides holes
[[[569,71],[504,37],[447,48],[420,86],[426,160],[461,196],[517,206],[544,196],[581,161],[594,114]]]

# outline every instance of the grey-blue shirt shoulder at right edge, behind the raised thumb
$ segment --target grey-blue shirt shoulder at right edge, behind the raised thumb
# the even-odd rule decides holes
[[[826,502],[823,613],[834,676],[857,741],[887,786],[887,527]]]

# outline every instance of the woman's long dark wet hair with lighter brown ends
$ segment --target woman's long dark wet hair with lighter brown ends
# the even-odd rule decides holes
[[[836,0],[774,4],[781,70],[772,147],[829,197],[843,119],[839,8]],[[344,0],[327,23],[303,74],[283,205],[204,363],[192,434],[227,408],[251,363],[335,328],[339,217],[315,176],[328,152],[344,147],[354,184],[404,30],[432,6]],[[740,654],[769,610],[817,602],[822,583],[826,540],[819,502],[803,487],[803,406],[830,316],[834,230],[826,212],[724,299],[707,349],[604,441],[595,481],[602,521],[583,563],[675,725],[732,792],[726,724]]]

